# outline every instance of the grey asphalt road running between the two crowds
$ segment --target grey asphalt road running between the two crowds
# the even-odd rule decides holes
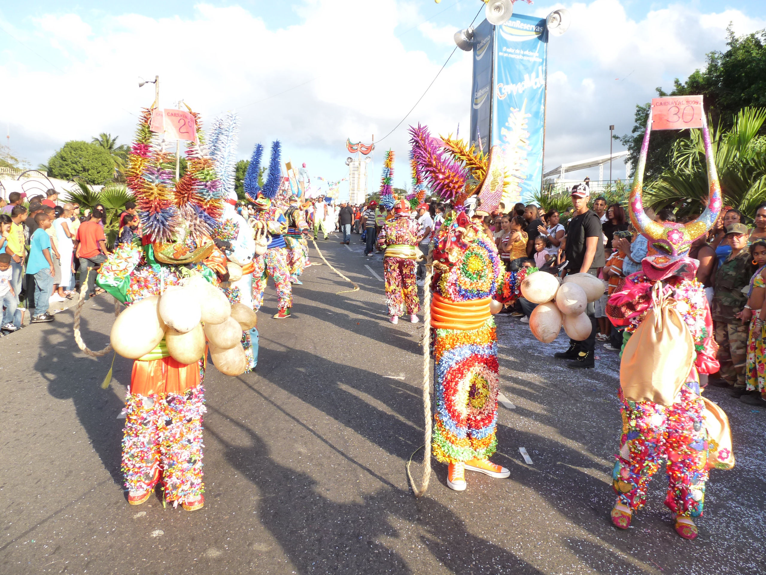
[[[91,360],[72,311],[0,339],[0,573],[764,573],[766,410],[719,389],[737,466],[712,471],[697,540],[663,506],[662,473],[627,532],[611,526],[618,361],[567,370],[529,327],[499,317],[499,453],[508,479],[469,473],[451,491],[434,462],[414,498],[404,465],[423,443],[422,324],[388,323],[381,257],[319,242],[326,265],[277,321],[259,314],[257,370],[205,376],[205,508],[127,504],[119,473],[131,362]],[[311,250],[312,260],[320,261]],[[372,261],[371,261],[372,260]],[[83,337],[108,340],[111,298],[86,304]],[[524,447],[532,465],[524,462]],[[421,475],[422,452],[415,473]]]

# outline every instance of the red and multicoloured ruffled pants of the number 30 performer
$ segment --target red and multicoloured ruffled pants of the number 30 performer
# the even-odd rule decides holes
[[[672,406],[633,402],[620,389],[623,432],[612,472],[620,502],[637,510],[647,501],[647,485],[666,460],[666,506],[674,513],[702,515],[708,479],[704,404],[688,384]]]

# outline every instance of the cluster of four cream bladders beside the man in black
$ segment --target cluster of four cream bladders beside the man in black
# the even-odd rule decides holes
[[[591,318],[585,308],[604,295],[604,282],[591,274],[570,274],[564,281],[545,271],[529,274],[521,285],[522,296],[538,304],[529,317],[529,329],[542,343],[558,337],[561,325],[573,340],[591,335]]]

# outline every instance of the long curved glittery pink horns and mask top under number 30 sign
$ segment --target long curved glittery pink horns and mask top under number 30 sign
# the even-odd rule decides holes
[[[649,240],[650,256],[658,258],[653,265],[670,263],[686,255],[691,248],[692,241],[705,234],[721,212],[721,185],[718,174],[715,172],[715,159],[713,158],[710,131],[705,114],[702,113],[702,140],[705,143],[705,162],[708,168],[709,197],[705,211],[699,218],[687,224],[673,222],[659,223],[651,220],[643,211],[643,169],[647,163],[649,151],[649,133],[652,130],[652,112],[650,109],[647,120],[647,131],[643,135],[641,153],[636,166],[636,175],[633,178],[633,189],[630,191],[630,221],[636,229]],[[664,258],[666,261],[660,261]],[[659,266],[657,266],[659,267]]]

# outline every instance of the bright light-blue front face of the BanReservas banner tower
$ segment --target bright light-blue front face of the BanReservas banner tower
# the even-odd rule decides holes
[[[494,28],[491,140],[505,151],[513,179],[507,206],[532,199],[542,185],[548,30],[545,18],[520,14]]]

